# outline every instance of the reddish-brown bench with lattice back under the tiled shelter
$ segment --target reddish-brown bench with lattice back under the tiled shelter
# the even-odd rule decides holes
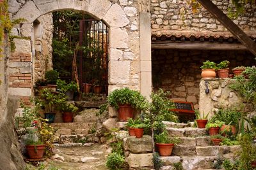
[[[172,111],[176,112],[180,122],[194,122],[195,120],[195,108],[192,102],[187,101],[173,101],[175,109]]]

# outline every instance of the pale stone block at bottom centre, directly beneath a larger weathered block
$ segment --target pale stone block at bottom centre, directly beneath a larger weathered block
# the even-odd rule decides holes
[[[152,153],[130,153],[126,158],[129,167],[152,167],[153,154]]]

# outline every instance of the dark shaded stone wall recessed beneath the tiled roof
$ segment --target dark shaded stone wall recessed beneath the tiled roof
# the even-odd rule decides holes
[[[152,52],[152,81],[154,90],[162,88],[172,92],[172,99],[193,102],[199,108],[199,83],[202,62],[230,61],[236,66],[252,66],[254,57],[244,51],[211,50],[156,50]]]

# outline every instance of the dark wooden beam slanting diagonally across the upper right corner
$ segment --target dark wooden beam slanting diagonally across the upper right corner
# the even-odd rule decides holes
[[[204,8],[211,13],[211,15],[216,18],[222,25],[224,25],[228,31],[230,31],[234,36],[236,36],[239,41],[246,46],[246,48],[256,56],[256,43],[247,36],[243,30],[241,30],[230,18],[223,13],[215,4],[210,0],[196,0],[198,3],[202,4]]]

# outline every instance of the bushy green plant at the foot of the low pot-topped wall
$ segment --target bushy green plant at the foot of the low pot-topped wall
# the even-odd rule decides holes
[[[217,113],[215,113],[210,122],[224,122],[226,125],[234,125],[238,127],[239,120],[242,113],[237,111],[235,108],[221,108]]]

